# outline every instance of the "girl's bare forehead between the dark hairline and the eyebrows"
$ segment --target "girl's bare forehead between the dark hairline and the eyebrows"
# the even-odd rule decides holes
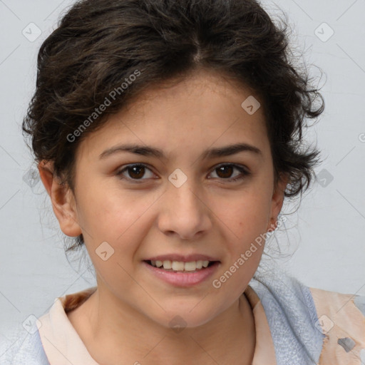
[[[247,109],[249,104],[252,108]],[[155,145],[166,154],[197,153],[227,143],[250,143],[264,150],[267,141],[264,113],[252,90],[216,73],[200,72],[146,89],[110,115],[79,149],[96,155],[128,142]]]

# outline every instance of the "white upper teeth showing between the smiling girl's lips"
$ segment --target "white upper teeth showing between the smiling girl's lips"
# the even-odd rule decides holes
[[[212,265],[219,263],[219,261],[209,261],[198,259],[196,261],[173,261],[170,259],[165,260],[144,260],[147,264],[158,269],[163,269],[166,272],[200,272],[202,270],[211,267]]]

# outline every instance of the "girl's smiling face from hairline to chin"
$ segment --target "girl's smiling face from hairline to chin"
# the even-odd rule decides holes
[[[201,72],[151,88],[81,142],[74,200],[56,215],[66,235],[83,233],[104,299],[165,327],[237,302],[285,186],[262,108],[241,106],[252,95]]]

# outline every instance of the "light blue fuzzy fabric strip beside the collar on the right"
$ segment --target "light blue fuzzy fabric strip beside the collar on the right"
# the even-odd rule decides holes
[[[309,287],[279,269],[252,278],[274,342],[277,365],[313,365],[319,361],[324,334]]]

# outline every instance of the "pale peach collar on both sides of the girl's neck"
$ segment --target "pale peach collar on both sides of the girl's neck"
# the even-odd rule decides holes
[[[88,353],[66,314],[85,302],[95,290],[96,287],[91,287],[56,298],[49,312],[39,318],[37,327],[49,364],[98,365]],[[264,308],[250,286],[247,286],[245,295],[255,318],[256,347],[252,365],[276,365],[274,344]]]

